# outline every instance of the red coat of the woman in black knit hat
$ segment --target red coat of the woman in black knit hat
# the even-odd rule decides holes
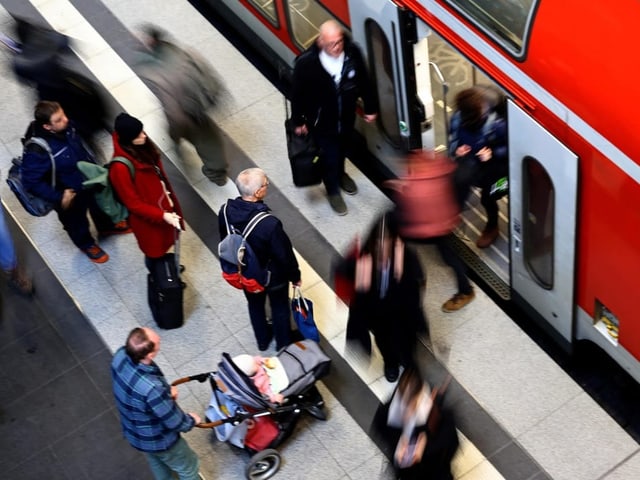
[[[140,250],[151,258],[162,257],[175,241],[175,229],[162,218],[164,212],[175,212],[182,217],[182,209],[178,203],[173,187],[158,154],[157,167],[165,179],[165,186],[171,194],[173,207],[164,193],[160,175],[153,165],[139,162],[126,153],[113,136],[114,157],[128,158],[135,168],[135,176],[127,165],[114,162],[109,168],[109,180],[118,194],[120,201],[129,210],[129,225],[136,236]],[[184,222],[182,222],[184,229]]]

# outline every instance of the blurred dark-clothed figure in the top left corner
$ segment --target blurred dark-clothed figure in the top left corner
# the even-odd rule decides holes
[[[106,106],[98,86],[70,67],[68,37],[22,19],[16,20],[16,35],[16,75],[35,86],[39,100],[58,102],[96,152],[93,137],[107,125]]]

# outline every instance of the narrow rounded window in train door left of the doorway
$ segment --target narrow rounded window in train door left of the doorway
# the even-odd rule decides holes
[[[367,20],[365,29],[371,55],[369,66],[380,104],[378,119],[384,134],[394,147],[399,148],[401,136],[396,109],[396,86],[393,79],[391,46],[384,31],[375,21]]]

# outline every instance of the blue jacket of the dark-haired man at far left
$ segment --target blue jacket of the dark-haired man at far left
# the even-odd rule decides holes
[[[31,123],[30,136],[44,139],[55,157],[56,187],[51,188],[51,159],[49,154],[37,145],[29,145],[22,156],[22,183],[32,194],[60,205],[62,192],[71,188],[76,192],[82,190],[84,178],[78,170],[78,162],[86,160],[95,162],[75,126],[69,122],[69,127],[60,134],[45,130],[41,126]]]

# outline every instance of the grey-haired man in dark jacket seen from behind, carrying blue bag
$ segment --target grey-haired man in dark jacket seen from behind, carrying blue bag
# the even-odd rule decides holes
[[[236,186],[240,197],[228,200],[226,217],[230,225],[242,232],[249,221],[260,212],[269,212],[263,199],[267,195],[269,179],[260,168],[248,168],[238,174]],[[227,236],[223,205],[218,214],[220,239]],[[271,280],[265,291],[260,293],[244,292],[249,302],[249,317],[253,332],[258,342],[258,349],[264,351],[269,347],[275,334],[276,349],[291,343],[291,327],[289,322],[289,282],[300,286],[300,268],[293,252],[291,240],[285,233],[282,222],[269,215],[256,225],[247,242],[255,253],[260,265],[271,271]],[[265,302],[267,296],[271,305],[273,331],[267,323]]]

